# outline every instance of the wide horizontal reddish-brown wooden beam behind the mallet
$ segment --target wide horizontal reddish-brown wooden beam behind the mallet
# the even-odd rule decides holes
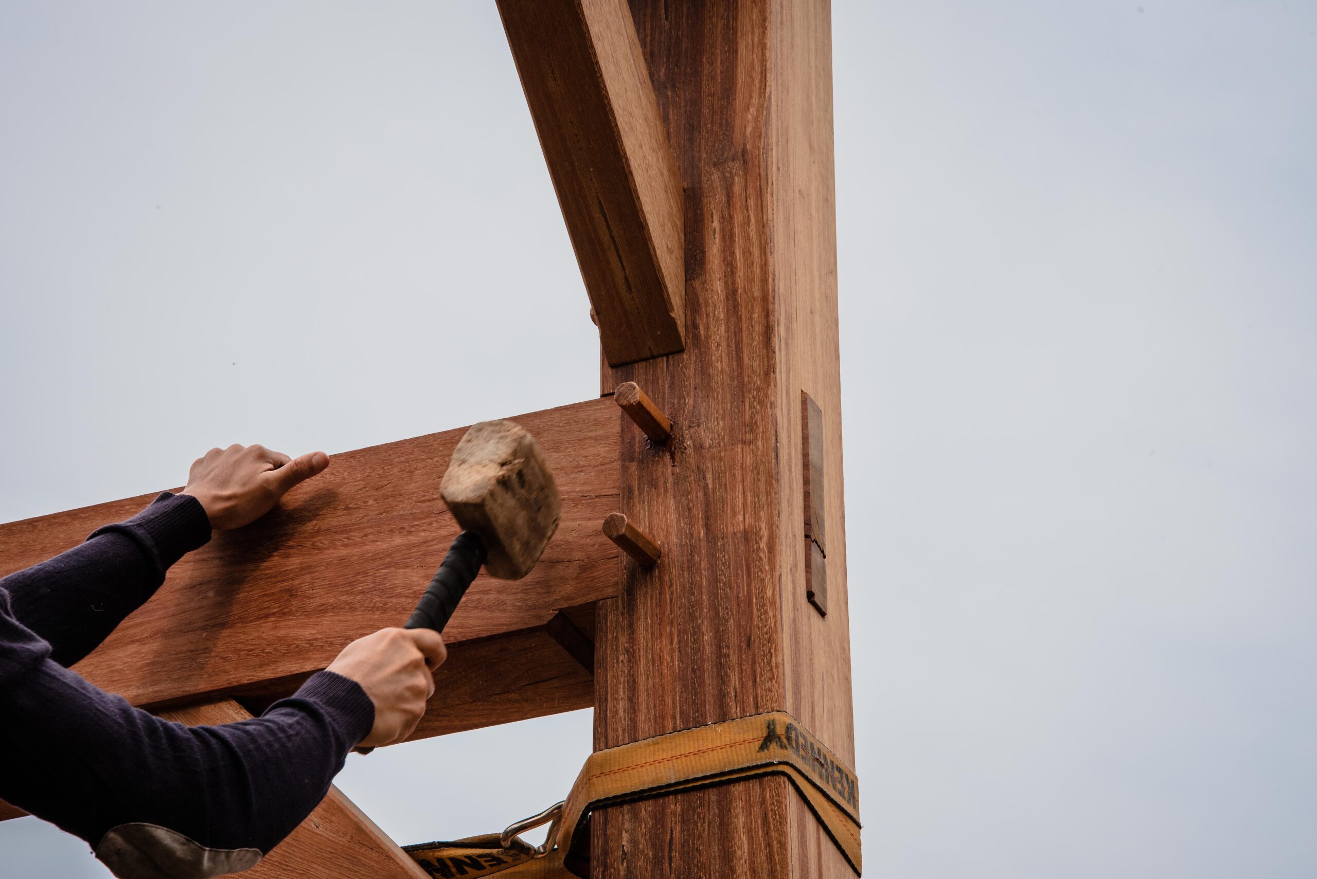
[[[564,607],[616,592],[616,547],[599,521],[618,507],[618,411],[608,400],[516,418],[562,492],[562,522],[523,580],[481,575],[444,632],[466,641],[543,626]],[[217,533],[76,666],[138,705],[238,692],[324,668],[349,641],[402,625],[458,528],[439,496],[465,429],[333,457],[245,529]],[[150,495],[0,525],[0,574],[49,558]],[[552,643],[552,641],[551,641]]]

